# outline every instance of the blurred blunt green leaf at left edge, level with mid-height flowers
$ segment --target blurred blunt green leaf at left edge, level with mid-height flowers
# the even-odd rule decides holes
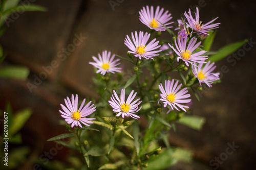
[[[20,80],[26,80],[29,75],[29,69],[22,66],[8,66],[0,69],[0,77],[2,78],[14,78]]]

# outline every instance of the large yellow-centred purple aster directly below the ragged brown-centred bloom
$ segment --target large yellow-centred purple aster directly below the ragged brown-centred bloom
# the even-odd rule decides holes
[[[188,45],[186,46],[187,38],[178,38],[177,41],[178,41],[178,44],[175,40],[175,46],[177,50],[174,48],[174,46],[170,44],[169,46],[172,47],[174,52],[178,55],[178,58],[177,58],[178,61],[179,59],[182,59],[187,66],[188,66],[188,63],[192,65],[195,65],[195,63],[206,63],[204,60],[207,59],[207,56],[200,56],[206,53],[206,51],[200,51],[192,54],[196,50],[196,48],[201,44],[201,42],[198,42],[196,44],[197,39],[191,38]]]

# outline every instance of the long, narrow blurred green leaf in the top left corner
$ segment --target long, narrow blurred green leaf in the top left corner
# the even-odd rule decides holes
[[[41,11],[41,12],[46,12],[47,9],[45,7],[41,7],[39,5],[19,5],[13,8],[10,8],[6,11],[3,12],[3,15],[9,15],[13,12],[24,12],[24,11]]]

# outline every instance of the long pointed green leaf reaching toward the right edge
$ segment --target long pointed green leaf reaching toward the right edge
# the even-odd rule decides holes
[[[220,50],[218,51],[218,54],[210,56],[209,60],[211,62],[219,61],[219,60],[227,57],[228,55],[232,54],[233,52],[236,52],[246,42],[247,42],[247,39],[245,39],[243,41],[228,44],[228,45],[220,48]]]

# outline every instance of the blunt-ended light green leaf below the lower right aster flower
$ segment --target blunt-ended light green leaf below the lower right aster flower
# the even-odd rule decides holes
[[[178,123],[186,125],[187,127],[195,130],[201,130],[205,123],[205,118],[195,115],[185,115],[178,120]]]

